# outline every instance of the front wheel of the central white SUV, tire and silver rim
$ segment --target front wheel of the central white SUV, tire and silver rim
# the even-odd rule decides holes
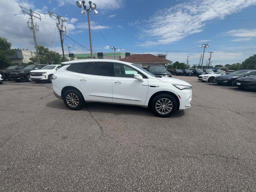
[[[164,105],[165,108],[161,111],[162,108],[159,109],[159,107],[161,106],[160,104],[166,104],[166,103],[168,103],[168,106],[171,109],[166,108],[166,105]],[[177,106],[178,106],[177,100],[170,94],[157,95],[152,99],[152,101],[150,103],[151,110],[154,112],[154,114],[156,116],[159,116],[159,117],[169,117],[169,116],[171,116],[172,114],[174,114],[174,112],[177,111]],[[166,110],[167,111],[170,110],[170,111],[166,112]],[[164,111],[166,113],[164,113]],[[161,112],[163,112],[163,113],[161,113]]]

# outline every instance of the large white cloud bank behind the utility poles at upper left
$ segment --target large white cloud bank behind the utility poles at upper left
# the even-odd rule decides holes
[[[10,4],[12,6],[10,6]],[[50,18],[48,15],[44,16],[46,6],[42,9],[35,9],[34,4],[24,0],[2,0],[0,6],[0,36],[2,37],[14,37],[8,38],[8,41],[12,43],[13,48],[25,48],[35,50],[33,33],[27,26],[29,16],[20,14],[21,9],[18,5],[22,5],[27,8],[32,8],[41,14],[42,20],[35,19],[34,22],[38,24],[40,30],[36,32],[38,45],[46,46],[52,50],[55,49],[55,45],[60,45],[59,33],[56,30],[56,20]],[[14,14],[17,13],[17,14]],[[8,21],[8,22],[6,22]],[[65,22],[67,34],[75,29],[74,25],[70,22]]]

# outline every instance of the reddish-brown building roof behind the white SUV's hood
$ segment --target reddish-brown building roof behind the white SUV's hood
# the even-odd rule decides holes
[[[133,54],[131,56],[120,59],[120,61],[130,63],[144,63],[144,62],[172,62],[170,60],[152,55],[152,54]]]

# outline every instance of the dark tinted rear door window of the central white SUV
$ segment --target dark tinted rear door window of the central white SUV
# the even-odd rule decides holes
[[[87,68],[86,74],[112,76],[111,62],[91,62]]]

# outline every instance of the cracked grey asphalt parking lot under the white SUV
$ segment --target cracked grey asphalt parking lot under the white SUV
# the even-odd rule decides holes
[[[0,85],[0,191],[256,191],[256,92],[174,76],[190,110],[66,108],[52,85]]]

